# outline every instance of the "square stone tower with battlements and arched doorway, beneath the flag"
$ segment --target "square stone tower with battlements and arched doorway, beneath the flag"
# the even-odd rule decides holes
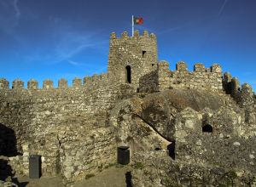
[[[152,33],[138,31],[129,37],[127,31],[121,37],[113,32],[108,54],[108,77],[115,82],[131,83],[138,88],[139,78],[157,68],[157,42]]]

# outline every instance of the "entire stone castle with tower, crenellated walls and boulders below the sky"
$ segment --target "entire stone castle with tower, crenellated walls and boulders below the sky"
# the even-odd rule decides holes
[[[17,75],[18,76],[18,75]],[[73,86],[0,79],[0,176],[43,176],[73,185],[131,150],[134,186],[256,185],[256,99],[247,83],[201,63],[159,61],[153,33],[110,36],[108,72]],[[139,167],[138,167],[139,166]],[[1,178],[0,178],[1,179]],[[231,182],[230,182],[231,181]]]

